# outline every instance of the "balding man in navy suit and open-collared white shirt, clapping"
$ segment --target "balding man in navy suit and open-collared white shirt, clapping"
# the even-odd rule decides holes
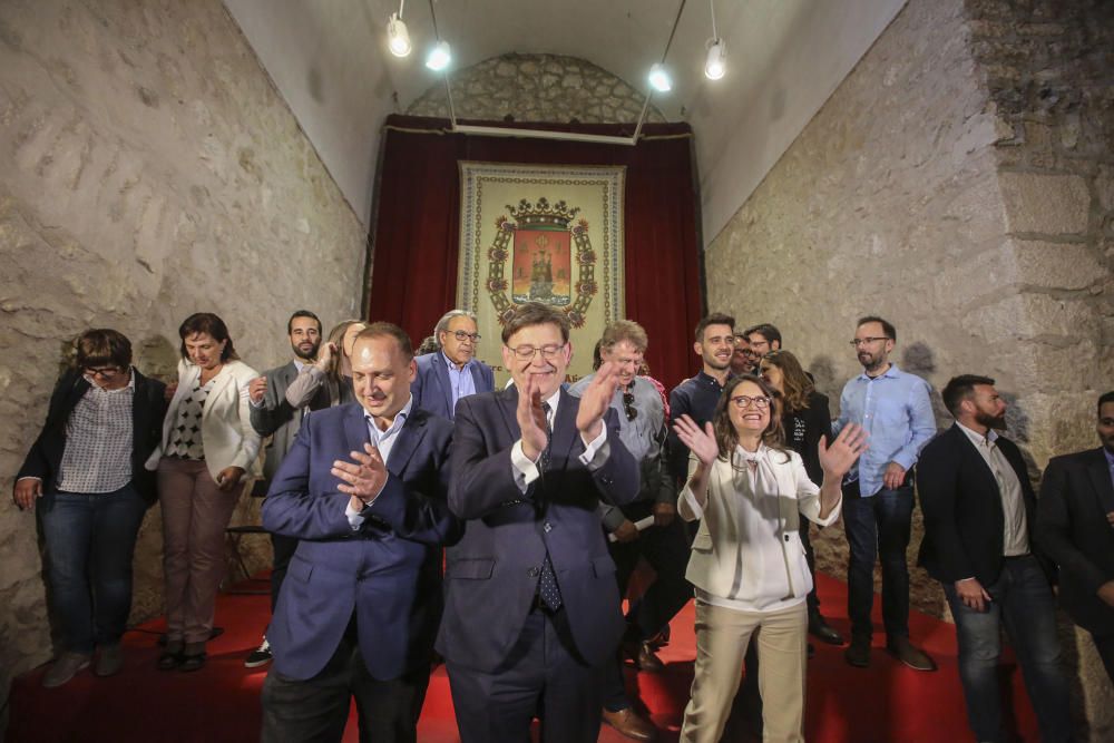
[[[303,422],[263,506],[295,537],[267,639],[264,741],[340,741],[355,696],[361,740],[417,740],[441,614],[440,545],[452,423],[418,409],[410,339],[373,323],[356,338],[358,403]]]

